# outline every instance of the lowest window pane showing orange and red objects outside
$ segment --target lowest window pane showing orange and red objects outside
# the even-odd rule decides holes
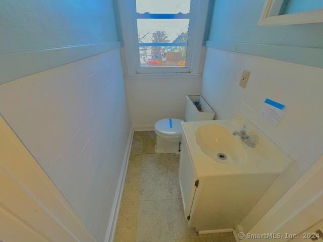
[[[186,46],[139,47],[141,67],[185,67]]]

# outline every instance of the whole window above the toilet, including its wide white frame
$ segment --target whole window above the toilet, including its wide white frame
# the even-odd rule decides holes
[[[116,1],[126,75],[200,73],[208,0]]]

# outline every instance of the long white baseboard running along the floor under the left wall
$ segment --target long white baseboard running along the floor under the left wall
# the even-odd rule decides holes
[[[113,202],[112,213],[111,213],[109,223],[108,223],[107,229],[106,229],[104,242],[113,242],[114,237],[115,237],[119,209],[120,209],[120,203],[121,203],[121,198],[122,198],[122,192],[123,192],[123,187],[125,184],[127,168],[128,168],[128,163],[129,163],[129,156],[130,156],[130,151],[131,151],[133,133],[134,133],[134,130],[131,129],[130,134],[129,134],[129,138],[128,138],[126,152],[124,155],[124,160],[123,160],[121,172],[120,172],[120,176],[119,176],[119,180],[118,180],[118,187],[117,187],[114,202]]]

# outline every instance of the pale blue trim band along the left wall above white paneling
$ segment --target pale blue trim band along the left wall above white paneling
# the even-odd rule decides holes
[[[120,42],[73,45],[0,54],[0,84],[120,48]]]

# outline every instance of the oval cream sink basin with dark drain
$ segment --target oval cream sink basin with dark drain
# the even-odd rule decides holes
[[[242,142],[220,125],[204,125],[195,133],[196,143],[204,154],[226,165],[242,165],[246,152]]]

